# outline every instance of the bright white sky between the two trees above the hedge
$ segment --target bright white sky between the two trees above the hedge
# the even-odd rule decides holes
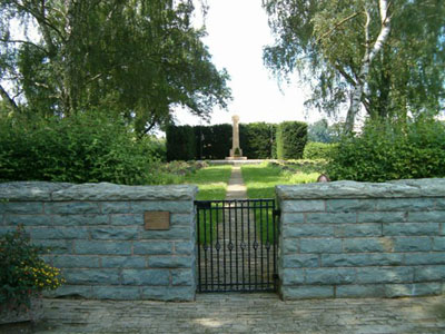
[[[280,90],[276,78],[263,65],[263,48],[273,43],[273,37],[261,0],[207,0],[207,3],[208,36],[202,41],[216,67],[226,68],[231,77],[228,86],[234,97],[227,110],[214,108],[210,124],[231,124],[233,115],[238,115],[240,122],[314,122],[323,118],[315,110],[309,117],[305,115],[308,91],[296,84],[281,84]],[[197,20],[196,24],[199,23]],[[200,122],[200,118],[185,110],[177,110],[176,117],[179,125]]]

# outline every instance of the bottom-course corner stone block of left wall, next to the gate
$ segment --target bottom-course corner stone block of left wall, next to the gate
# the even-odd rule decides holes
[[[142,298],[166,302],[192,302],[196,288],[192,286],[149,286],[142,288]]]

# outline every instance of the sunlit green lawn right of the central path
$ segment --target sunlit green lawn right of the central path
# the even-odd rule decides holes
[[[269,163],[261,165],[246,165],[241,167],[243,178],[247,186],[249,198],[275,198],[276,185],[307,184],[317,180],[320,167],[298,166],[289,163],[289,170]]]

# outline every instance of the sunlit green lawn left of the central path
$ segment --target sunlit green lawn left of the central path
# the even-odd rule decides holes
[[[209,166],[185,177],[185,184],[197,185],[199,193],[196,199],[225,199],[231,166]]]

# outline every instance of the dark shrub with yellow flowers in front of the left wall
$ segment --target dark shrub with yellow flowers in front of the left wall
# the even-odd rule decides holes
[[[22,226],[0,237],[0,305],[29,305],[31,296],[65,282],[58,268],[43,262],[42,254],[43,248],[30,243]]]

